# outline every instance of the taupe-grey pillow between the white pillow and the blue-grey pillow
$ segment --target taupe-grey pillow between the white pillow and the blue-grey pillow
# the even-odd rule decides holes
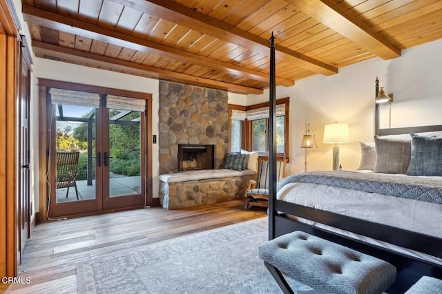
[[[411,140],[406,137],[374,136],[376,173],[405,174],[410,165]]]

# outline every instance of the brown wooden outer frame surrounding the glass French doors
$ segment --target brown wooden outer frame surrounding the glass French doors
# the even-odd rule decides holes
[[[51,87],[64,90],[74,90],[81,92],[93,92],[97,94],[111,94],[115,96],[124,96],[131,98],[139,98],[146,100],[146,134],[152,133],[152,94],[133,92],[127,90],[118,90],[108,87],[99,87],[93,85],[84,85],[79,83],[70,83],[64,81],[55,81],[46,78],[39,78],[39,116],[43,119],[39,120],[39,221],[48,220],[48,193],[49,187],[46,182],[46,171],[48,169],[49,154],[49,133],[50,116],[48,116],[47,96]],[[152,195],[152,136],[146,137],[146,205],[150,205],[153,201]],[[54,166],[54,165],[52,165]],[[143,207],[143,206],[141,206]],[[140,207],[140,208],[141,208]],[[139,207],[131,207],[139,208]],[[124,208],[121,210],[131,209]],[[99,213],[106,213],[120,209],[111,209],[104,211],[94,211],[90,213],[81,213],[76,216],[88,216]],[[69,216],[73,217],[73,216]]]

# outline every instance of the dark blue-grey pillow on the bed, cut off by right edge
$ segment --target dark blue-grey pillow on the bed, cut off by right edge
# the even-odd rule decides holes
[[[412,157],[408,176],[442,176],[442,138],[410,134]]]

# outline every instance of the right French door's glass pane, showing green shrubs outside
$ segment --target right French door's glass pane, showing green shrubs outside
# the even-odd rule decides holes
[[[141,169],[141,112],[108,109],[109,197],[140,195]]]

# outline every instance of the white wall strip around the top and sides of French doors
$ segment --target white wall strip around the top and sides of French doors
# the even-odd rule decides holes
[[[128,74],[120,74],[117,72],[111,72],[108,70],[99,70],[91,67],[84,67],[80,65],[73,65],[70,63],[62,63],[59,61],[52,61],[49,59],[36,58],[34,65],[34,91],[33,101],[34,106],[31,107],[33,117],[32,125],[35,126],[33,131],[31,130],[32,138],[35,148],[33,149],[34,160],[38,162],[38,78],[49,78],[57,81],[66,81],[71,83],[82,83],[86,85],[96,85],[101,87],[111,87],[121,90],[129,90],[136,92],[144,92],[152,94],[152,134],[158,134],[158,85],[159,81],[152,78],[143,78],[141,76],[131,76]],[[153,197],[158,196],[158,145],[152,145],[152,174],[153,174]],[[35,170],[35,174],[38,173],[38,169]],[[38,176],[38,174],[37,174]],[[36,180],[38,182],[38,180]],[[35,195],[38,195],[38,187],[35,187]],[[35,205],[38,209],[38,197],[35,197]]]

